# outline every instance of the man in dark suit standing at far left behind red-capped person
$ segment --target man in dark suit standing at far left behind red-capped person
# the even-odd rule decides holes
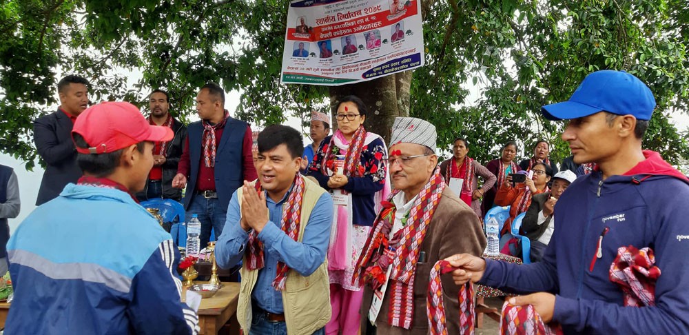
[[[55,199],[65,185],[76,183],[81,176],[81,169],[76,165],[72,126],[76,116],[88,107],[88,85],[83,77],[64,77],[57,84],[60,96],[57,111],[34,120],[34,143],[46,164],[37,206]]]

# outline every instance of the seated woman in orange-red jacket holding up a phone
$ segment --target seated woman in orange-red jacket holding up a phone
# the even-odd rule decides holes
[[[509,232],[517,215],[526,212],[528,206],[531,205],[531,197],[534,194],[548,192],[548,181],[553,177],[553,169],[544,163],[536,163],[531,167],[531,178],[526,177],[524,183],[515,183],[512,185],[512,176],[505,177],[505,181],[500,186],[495,194],[495,205],[512,206],[510,207],[510,219],[505,221],[505,224],[500,230],[500,236],[504,236]],[[526,172],[520,172],[526,173]]]

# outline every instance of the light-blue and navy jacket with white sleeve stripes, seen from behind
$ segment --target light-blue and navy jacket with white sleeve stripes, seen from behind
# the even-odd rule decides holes
[[[198,333],[172,237],[125,192],[70,183],[7,248],[7,334]]]

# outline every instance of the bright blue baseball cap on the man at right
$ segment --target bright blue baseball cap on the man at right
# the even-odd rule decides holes
[[[624,71],[601,70],[588,74],[568,101],[544,105],[541,112],[551,121],[602,111],[648,120],[654,109],[653,94],[637,77]]]

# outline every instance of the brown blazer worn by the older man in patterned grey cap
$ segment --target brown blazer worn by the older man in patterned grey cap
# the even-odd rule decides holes
[[[426,232],[426,238],[421,245],[421,250],[426,252],[426,263],[417,263],[414,278],[414,320],[411,329],[392,327],[388,324],[388,309],[390,305],[390,292],[392,284],[388,283],[380,313],[376,319],[378,335],[387,334],[428,334],[429,321],[426,316],[426,291],[429,285],[429,275],[435,262],[453,254],[466,252],[475,256],[481,256],[486,248],[481,223],[473,210],[461,201],[455,194],[446,188],[442,192],[438,208],[433,213],[433,219]],[[452,281],[450,274],[444,274],[441,278],[445,315],[447,318],[448,334],[459,334],[459,302],[457,294],[459,286]],[[361,304],[361,334],[366,334],[369,322],[369,308],[373,291],[368,285],[364,286],[364,298]]]

